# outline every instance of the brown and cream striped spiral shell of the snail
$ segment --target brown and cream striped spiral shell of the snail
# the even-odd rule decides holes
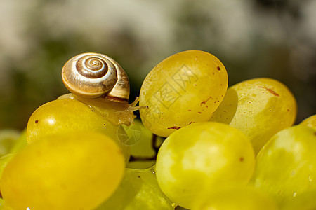
[[[105,97],[129,100],[129,78],[111,57],[100,53],[82,53],[62,67],[62,81],[72,94],[84,98]]]

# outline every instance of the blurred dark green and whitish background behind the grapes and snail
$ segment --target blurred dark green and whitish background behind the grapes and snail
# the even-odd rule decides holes
[[[282,81],[296,123],[316,113],[315,0],[1,0],[0,129],[22,130],[32,112],[67,93],[70,57],[100,52],[124,68],[131,101],[147,73],[183,50],[216,55],[229,85]]]

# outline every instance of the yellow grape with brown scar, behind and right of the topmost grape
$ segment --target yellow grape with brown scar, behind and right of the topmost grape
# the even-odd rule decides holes
[[[256,78],[229,87],[211,121],[244,132],[258,153],[274,134],[293,125],[296,110],[296,99],[284,84]]]

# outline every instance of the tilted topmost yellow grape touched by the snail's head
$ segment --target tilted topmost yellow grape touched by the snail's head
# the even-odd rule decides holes
[[[140,117],[161,137],[181,127],[209,120],[225,95],[228,75],[214,55],[199,50],[164,59],[146,76],[140,89]]]

